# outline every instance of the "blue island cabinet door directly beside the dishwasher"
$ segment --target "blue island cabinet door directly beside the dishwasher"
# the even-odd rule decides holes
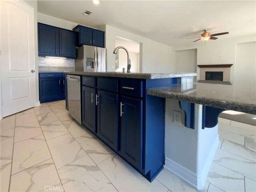
[[[82,123],[96,133],[96,89],[82,86]]]

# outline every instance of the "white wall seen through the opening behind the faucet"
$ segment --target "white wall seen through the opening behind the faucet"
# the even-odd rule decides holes
[[[139,66],[139,53],[129,52],[130,60],[131,60],[131,72],[139,72],[140,66]],[[116,72],[122,72],[123,68],[127,70],[127,53],[125,50],[119,49],[118,50],[118,62],[119,62],[119,68],[116,70]]]

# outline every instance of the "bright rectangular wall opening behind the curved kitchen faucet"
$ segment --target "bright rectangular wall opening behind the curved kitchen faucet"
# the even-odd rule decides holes
[[[140,72],[140,42],[116,36],[116,47],[122,46],[129,52],[131,61],[131,72]],[[127,53],[119,49],[116,54],[116,72],[122,72],[123,68],[127,70]]]

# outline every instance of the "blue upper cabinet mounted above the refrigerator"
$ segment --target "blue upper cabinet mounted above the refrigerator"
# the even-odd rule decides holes
[[[105,32],[97,29],[78,25],[73,31],[77,32],[77,44],[97,47],[105,46]]]

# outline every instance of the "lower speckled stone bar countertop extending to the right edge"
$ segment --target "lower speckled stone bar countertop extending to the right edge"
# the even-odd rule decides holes
[[[201,81],[147,90],[148,95],[187,101],[226,110],[256,114],[256,88]]]

